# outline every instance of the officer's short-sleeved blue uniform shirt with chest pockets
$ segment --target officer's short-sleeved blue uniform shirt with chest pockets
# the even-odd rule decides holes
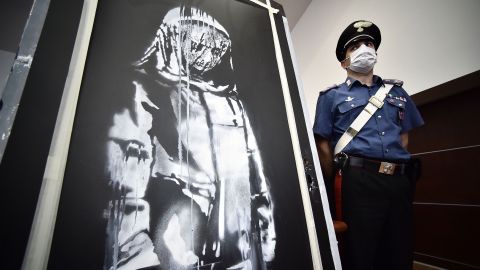
[[[338,140],[383,85],[373,77],[371,87],[347,78],[330,90],[321,92],[317,101],[313,132],[330,140],[335,148]],[[387,94],[384,105],[343,149],[343,152],[381,160],[407,160],[410,153],[402,147],[400,134],[423,125],[423,119],[410,96],[400,85]]]

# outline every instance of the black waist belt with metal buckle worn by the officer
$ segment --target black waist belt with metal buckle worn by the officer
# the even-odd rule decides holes
[[[352,156],[348,157],[348,164],[352,167],[359,167],[368,171],[388,175],[403,175],[407,173],[408,169],[408,164],[377,161]]]

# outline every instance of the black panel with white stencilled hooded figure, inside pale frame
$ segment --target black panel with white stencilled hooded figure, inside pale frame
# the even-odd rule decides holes
[[[100,1],[49,269],[312,269],[268,11]]]

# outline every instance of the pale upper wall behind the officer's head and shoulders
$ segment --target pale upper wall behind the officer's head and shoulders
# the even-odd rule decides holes
[[[380,27],[375,73],[414,94],[480,69],[479,0],[313,0],[292,31],[308,109],[318,92],[345,80],[338,37],[358,19]]]

